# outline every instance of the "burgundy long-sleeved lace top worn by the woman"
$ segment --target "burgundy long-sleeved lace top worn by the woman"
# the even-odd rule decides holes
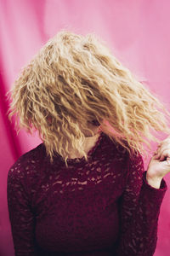
[[[59,154],[50,164],[43,143],[8,172],[8,212],[17,256],[151,256],[167,184],[145,179],[140,154],[101,132],[82,158]]]

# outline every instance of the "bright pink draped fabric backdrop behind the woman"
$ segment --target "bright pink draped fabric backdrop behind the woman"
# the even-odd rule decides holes
[[[35,134],[18,137],[6,116],[5,93],[48,38],[62,28],[96,32],[115,55],[170,107],[170,2],[142,0],[1,0],[0,2],[0,256],[13,256],[8,221],[8,168],[41,143]],[[169,109],[170,110],[170,109]],[[165,137],[162,137],[164,139]],[[153,148],[156,147],[152,144]],[[149,159],[144,161],[146,169]],[[170,188],[170,175],[165,177]],[[170,189],[161,205],[155,256],[170,251]]]

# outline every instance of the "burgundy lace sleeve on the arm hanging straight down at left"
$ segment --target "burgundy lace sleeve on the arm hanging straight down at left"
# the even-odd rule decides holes
[[[23,166],[18,160],[8,171],[8,214],[15,256],[35,256],[34,218],[26,193]]]

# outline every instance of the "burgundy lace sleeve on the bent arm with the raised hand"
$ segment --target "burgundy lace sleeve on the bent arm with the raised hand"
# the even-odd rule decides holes
[[[147,183],[140,154],[129,160],[126,188],[120,201],[121,231],[116,256],[152,256],[156,250],[161,202],[167,190]]]

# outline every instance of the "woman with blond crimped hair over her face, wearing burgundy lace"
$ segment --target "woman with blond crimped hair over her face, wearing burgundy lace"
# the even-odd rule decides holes
[[[170,139],[150,132],[170,134],[156,96],[93,34],[62,31],[11,98],[9,118],[42,138],[8,172],[15,255],[153,255],[170,172]],[[160,143],[147,171],[144,137]]]

